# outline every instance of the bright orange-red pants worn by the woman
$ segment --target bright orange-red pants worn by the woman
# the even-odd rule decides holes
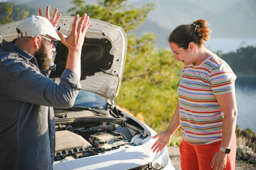
[[[218,152],[221,141],[209,145],[191,145],[182,139],[179,145],[180,164],[182,170],[212,170],[212,158]],[[235,170],[236,165],[236,135],[234,136],[227,165],[224,170]]]

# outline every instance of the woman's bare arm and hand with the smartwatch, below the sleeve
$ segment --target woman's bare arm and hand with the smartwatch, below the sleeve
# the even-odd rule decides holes
[[[235,91],[215,95],[221,110],[224,112],[224,119],[222,125],[222,140],[220,146],[223,148],[229,148],[236,130],[236,116],[237,116],[237,107],[236,107],[236,94]],[[213,170],[223,170],[227,163],[227,154],[218,151],[215,153],[212,158],[211,167],[214,166]]]

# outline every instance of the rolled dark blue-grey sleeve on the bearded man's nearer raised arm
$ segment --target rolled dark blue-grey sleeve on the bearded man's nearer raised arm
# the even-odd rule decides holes
[[[64,70],[59,85],[33,69],[19,72],[13,83],[16,100],[58,108],[72,107],[80,89],[79,78],[70,69]]]

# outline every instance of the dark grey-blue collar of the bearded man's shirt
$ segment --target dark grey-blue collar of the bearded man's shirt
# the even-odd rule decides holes
[[[16,45],[13,45],[12,43],[7,42],[5,40],[3,40],[1,46],[4,47],[8,51],[11,51],[11,52],[14,52],[14,53],[20,55],[21,57],[23,57],[26,60],[31,60],[31,58],[33,57],[33,55],[29,54],[28,52],[20,49]]]

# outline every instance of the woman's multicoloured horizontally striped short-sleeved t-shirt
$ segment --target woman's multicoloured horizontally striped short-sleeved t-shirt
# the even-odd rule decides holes
[[[221,140],[224,113],[214,95],[235,90],[236,75],[217,55],[182,69],[177,90],[182,137],[192,145]]]

